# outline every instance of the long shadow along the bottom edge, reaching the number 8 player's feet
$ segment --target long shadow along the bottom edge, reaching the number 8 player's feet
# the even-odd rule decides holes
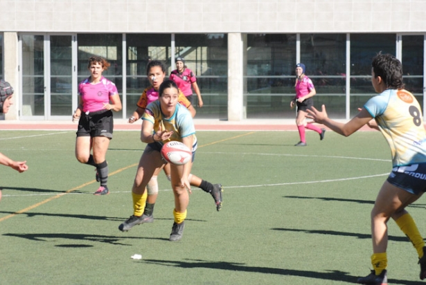
[[[198,259],[184,259],[184,260],[186,261],[144,259],[141,262],[148,262],[150,264],[174,266],[174,267],[180,267],[180,268],[209,268],[209,269],[219,269],[219,270],[231,270],[231,271],[237,271],[237,272],[291,275],[291,276],[297,276],[297,277],[307,277],[307,278],[332,280],[332,281],[347,282],[347,283],[355,283],[358,278],[340,270],[328,270],[327,272],[316,272],[316,271],[308,271],[308,270],[292,270],[292,269],[285,269],[285,268],[246,266],[245,264],[231,263],[231,262],[225,262],[225,261],[204,261],[204,260],[198,260]],[[419,284],[419,282],[407,281],[407,280],[390,279],[389,281],[392,282],[392,284],[405,284],[405,285]]]

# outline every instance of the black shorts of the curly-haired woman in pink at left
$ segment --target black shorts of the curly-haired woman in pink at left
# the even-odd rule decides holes
[[[77,136],[105,136],[112,138],[114,120],[111,110],[101,110],[90,113],[82,113],[78,121]]]

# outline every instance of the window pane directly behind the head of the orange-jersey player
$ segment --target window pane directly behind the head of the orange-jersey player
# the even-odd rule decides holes
[[[132,116],[142,91],[150,85],[146,66],[150,60],[160,60],[170,66],[170,34],[129,34],[126,35],[127,60],[127,118]]]

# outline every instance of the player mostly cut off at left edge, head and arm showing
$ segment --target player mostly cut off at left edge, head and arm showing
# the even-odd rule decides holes
[[[13,96],[12,86],[10,86],[9,82],[0,80],[0,113],[8,113],[10,105],[13,104],[12,96]],[[28,165],[26,165],[26,161],[15,161],[1,153],[0,153],[0,164],[6,165],[12,169],[15,169],[19,173],[22,173],[28,170]],[[1,200],[1,189],[0,189],[0,200]]]

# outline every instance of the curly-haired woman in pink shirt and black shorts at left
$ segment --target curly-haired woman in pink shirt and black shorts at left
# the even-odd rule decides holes
[[[109,193],[105,156],[114,129],[112,111],[121,110],[116,85],[102,75],[109,66],[102,57],[89,58],[87,68],[91,75],[78,85],[78,108],[73,114],[73,121],[78,120],[76,158],[80,163],[96,167],[96,181],[100,182],[100,187],[95,195]]]

